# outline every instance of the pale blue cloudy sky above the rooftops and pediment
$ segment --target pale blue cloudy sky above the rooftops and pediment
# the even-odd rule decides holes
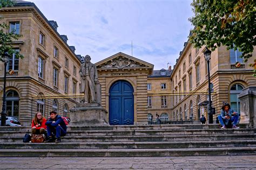
[[[189,0],[30,1],[57,22],[76,54],[89,54],[92,62],[123,52],[155,70],[166,69],[175,64],[192,29]]]

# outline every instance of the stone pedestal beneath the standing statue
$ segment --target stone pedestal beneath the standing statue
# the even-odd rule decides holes
[[[81,103],[71,111],[71,126],[109,125],[107,111],[98,103]]]

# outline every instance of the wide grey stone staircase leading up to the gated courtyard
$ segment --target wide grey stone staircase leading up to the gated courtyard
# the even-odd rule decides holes
[[[62,143],[23,143],[30,127],[0,126],[0,157],[156,157],[256,154],[256,129],[216,124],[71,126]]]

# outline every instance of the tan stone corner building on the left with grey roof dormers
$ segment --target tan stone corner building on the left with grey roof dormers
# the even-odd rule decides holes
[[[22,34],[13,46],[24,55],[24,59],[11,55],[6,70],[7,115],[29,125],[33,95],[79,92],[80,57],[75,54],[75,47],[67,44],[68,37],[58,33],[57,23],[46,19],[35,4],[22,2],[2,8],[0,15],[3,17],[0,22],[10,26],[6,31]],[[9,74],[9,69],[14,74]],[[0,62],[0,75],[0,96],[3,96],[3,62]],[[37,109],[44,112],[42,104],[38,103]]]

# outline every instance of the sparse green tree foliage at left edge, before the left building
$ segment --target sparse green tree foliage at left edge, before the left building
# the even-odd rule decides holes
[[[0,0],[0,9],[6,6],[13,6],[16,2],[10,0]],[[3,18],[0,16],[0,21]],[[0,24],[0,60],[2,60],[2,56],[4,52],[8,52],[9,54],[15,53],[19,58],[24,58],[22,54],[19,54],[12,47],[12,42],[14,40],[18,40],[21,37],[21,34],[16,34],[15,32],[9,32],[9,26],[5,23]]]

